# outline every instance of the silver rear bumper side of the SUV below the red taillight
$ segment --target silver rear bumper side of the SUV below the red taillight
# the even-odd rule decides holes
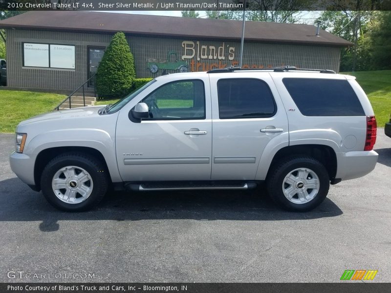
[[[378,154],[370,151],[348,151],[337,153],[337,174],[335,178],[349,180],[367,175],[377,163]]]

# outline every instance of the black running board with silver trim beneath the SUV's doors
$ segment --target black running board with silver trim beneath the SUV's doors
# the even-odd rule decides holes
[[[221,184],[221,185],[208,185],[208,184],[125,184],[126,189],[133,191],[159,191],[159,190],[246,190],[257,187],[255,182],[246,182],[242,184]]]

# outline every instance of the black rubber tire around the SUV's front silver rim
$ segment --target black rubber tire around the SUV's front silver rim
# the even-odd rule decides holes
[[[90,191],[87,199],[80,203],[66,203],[62,201],[57,197],[52,188],[54,175],[66,166],[82,168],[87,171],[90,176],[89,178],[91,178],[92,186],[88,181],[87,184],[91,186],[92,191]],[[55,157],[44,167],[41,176],[41,189],[44,197],[52,206],[64,211],[84,211],[91,209],[105,196],[108,186],[109,176],[103,163],[85,153],[68,152]],[[80,197],[80,194],[77,196]]]

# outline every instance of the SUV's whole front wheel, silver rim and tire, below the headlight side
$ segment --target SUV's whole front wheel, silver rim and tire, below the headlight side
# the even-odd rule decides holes
[[[108,174],[93,156],[65,153],[52,159],[43,169],[41,188],[55,208],[82,211],[92,208],[105,195]]]

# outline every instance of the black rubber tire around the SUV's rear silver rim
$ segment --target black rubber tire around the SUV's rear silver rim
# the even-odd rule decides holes
[[[325,200],[328,188],[330,187],[330,180],[326,168],[318,160],[307,156],[295,156],[285,158],[283,161],[280,161],[274,166],[275,167],[270,170],[267,178],[267,190],[272,200],[280,207],[291,211],[308,211],[316,208]],[[318,192],[311,200],[305,203],[294,203],[290,201],[287,197],[285,197],[282,190],[285,176],[298,168],[310,169],[319,179]],[[289,187],[289,185],[287,187]],[[310,190],[310,192],[312,191],[312,189],[308,190]],[[297,200],[295,198],[296,196]],[[299,201],[298,194],[294,195],[292,200]]]

